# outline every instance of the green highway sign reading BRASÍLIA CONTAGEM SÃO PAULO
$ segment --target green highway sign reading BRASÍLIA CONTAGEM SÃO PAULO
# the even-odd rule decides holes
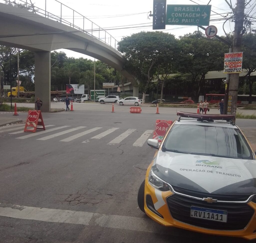
[[[210,22],[211,5],[167,5],[166,25],[202,25]]]

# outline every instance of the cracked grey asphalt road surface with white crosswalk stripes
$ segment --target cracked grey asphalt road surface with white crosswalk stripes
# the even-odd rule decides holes
[[[146,140],[156,119],[176,119],[176,108],[156,115],[155,107],[131,114],[129,106],[111,113],[110,105],[84,105],[43,113],[45,131],[0,128],[1,243],[247,242],[167,228],[138,209],[137,191],[155,152]]]

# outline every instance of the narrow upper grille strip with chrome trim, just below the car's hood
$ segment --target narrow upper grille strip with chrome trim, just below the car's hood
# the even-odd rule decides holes
[[[178,193],[182,193],[184,195],[189,195],[193,197],[198,197],[198,198],[214,198],[218,199],[219,201],[233,201],[233,202],[239,202],[239,201],[247,201],[247,199],[251,195],[221,195],[221,194],[212,194],[212,193],[205,193],[205,192],[200,192],[200,191],[194,191],[182,187],[177,187],[177,186],[172,186],[174,191]]]

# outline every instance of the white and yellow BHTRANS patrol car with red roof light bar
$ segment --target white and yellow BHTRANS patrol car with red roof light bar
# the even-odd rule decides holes
[[[138,206],[164,226],[256,238],[256,159],[231,115],[178,112],[138,191]]]

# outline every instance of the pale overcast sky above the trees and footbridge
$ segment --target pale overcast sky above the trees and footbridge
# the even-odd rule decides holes
[[[193,1],[195,3],[193,3]],[[206,5],[209,0],[167,0],[167,4],[189,4]],[[32,1],[36,6],[45,8],[45,0]],[[112,35],[117,41],[120,41],[124,36],[130,36],[133,33],[140,31],[153,31],[152,30],[152,17],[148,19],[147,13],[153,10],[153,0],[60,0],[61,3],[73,8],[81,15],[87,17],[95,24],[99,25],[103,29],[109,29],[108,33]],[[229,1],[228,1],[229,2]],[[232,0],[232,5],[235,7],[236,1]],[[253,2],[253,1],[252,1]],[[222,25],[224,18],[222,16],[230,16],[231,9],[224,0],[211,0],[211,17],[210,25],[214,25],[218,29],[218,35],[224,35]],[[57,4],[54,0],[47,0],[47,11],[55,15],[60,15],[60,4]],[[214,13],[214,12],[216,13]],[[221,15],[218,15],[221,14]],[[82,28],[82,18],[78,14],[74,14],[76,17],[75,25],[80,25]],[[67,21],[73,21],[73,11],[62,6],[62,16],[65,16]],[[222,20],[214,20],[222,19]],[[89,22],[89,21],[88,21]],[[137,26],[136,28],[129,27]],[[149,26],[150,25],[150,26]],[[91,23],[88,23],[88,29],[91,28]],[[148,26],[148,27],[142,27]],[[117,28],[117,29],[115,29]],[[121,29],[120,29],[121,28]],[[227,33],[233,31],[233,23],[227,21],[225,24],[225,31]],[[86,29],[86,28],[85,28]],[[197,30],[197,26],[181,26],[181,25],[166,25],[164,32],[174,34],[176,38],[186,33],[192,33]],[[201,29],[200,29],[201,30]],[[201,30],[203,31],[203,30]],[[109,40],[107,38],[107,40]],[[113,42],[112,42],[113,43]],[[67,56],[90,58],[80,53],[61,49]]]

